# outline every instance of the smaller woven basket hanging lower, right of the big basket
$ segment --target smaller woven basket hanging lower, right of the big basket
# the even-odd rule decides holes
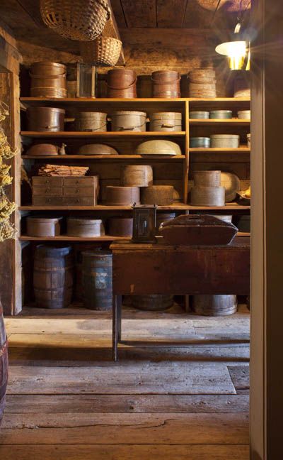
[[[83,61],[99,67],[114,67],[122,49],[122,41],[112,37],[98,37],[88,43],[81,43]]]

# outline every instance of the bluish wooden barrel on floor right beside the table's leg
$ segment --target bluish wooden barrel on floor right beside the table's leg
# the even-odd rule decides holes
[[[112,308],[112,253],[83,251],[83,305],[90,310]]]

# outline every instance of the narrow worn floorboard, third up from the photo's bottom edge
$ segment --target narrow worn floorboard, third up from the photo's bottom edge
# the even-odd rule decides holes
[[[248,412],[248,395],[7,395],[6,413]]]

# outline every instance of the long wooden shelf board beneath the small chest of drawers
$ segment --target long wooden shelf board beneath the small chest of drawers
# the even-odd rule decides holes
[[[98,204],[97,206],[20,206],[20,211],[130,211],[131,206],[105,206]],[[242,206],[237,203],[229,203],[226,206],[192,206],[191,204],[175,203],[167,206],[158,206],[158,210],[175,209],[176,211],[231,211],[231,210],[249,210],[250,206]]]

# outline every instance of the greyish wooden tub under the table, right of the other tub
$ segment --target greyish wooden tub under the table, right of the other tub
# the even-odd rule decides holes
[[[236,295],[194,295],[192,310],[203,316],[226,316],[237,312]]]

